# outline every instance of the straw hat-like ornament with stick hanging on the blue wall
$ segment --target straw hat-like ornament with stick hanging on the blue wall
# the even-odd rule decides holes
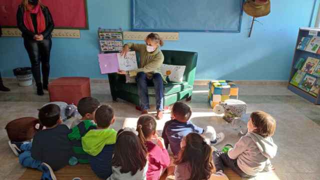
[[[262,17],[270,13],[270,0],[246,0],[243,4],[243,10],[248,15],[252,16],[252,22],[249,32],[251,36],[253,23],[256,17]]]

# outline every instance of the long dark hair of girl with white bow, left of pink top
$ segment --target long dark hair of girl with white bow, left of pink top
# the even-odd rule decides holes
[[[134,175],[147,163],[146,154],[138,136],[131,131],[117,133],[112,157],[112,166],[120,167],[121,173],[131,172]]]

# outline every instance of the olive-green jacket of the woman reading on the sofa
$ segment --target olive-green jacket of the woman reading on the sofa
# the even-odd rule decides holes
[[[152,76],[153,73],[161,74],[161,65],[164,60],[164,56],[157,47],[153,52],[146,51],[145,44],[138,43],[127,43],[129,49],[138,51],[140,54],[140,64],[139,68],[129,70],[130,76],[136,76],[138,72],[145,72],[148,77]],[[161,74],[163,82],[167,83],[164,76]]]

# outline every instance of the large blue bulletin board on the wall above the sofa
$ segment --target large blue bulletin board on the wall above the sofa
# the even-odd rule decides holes
[[[131,0],[133,31],[240,32],[244,0]]]

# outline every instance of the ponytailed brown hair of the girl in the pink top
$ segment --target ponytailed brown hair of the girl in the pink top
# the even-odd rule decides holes
[[[152,136],[155,133],[156,121],[153,115],[141,115],[136,123],[136,131],[138,131],[138,137],[144,147],[145,152],[147,148],[145,146],[146,138]]]

